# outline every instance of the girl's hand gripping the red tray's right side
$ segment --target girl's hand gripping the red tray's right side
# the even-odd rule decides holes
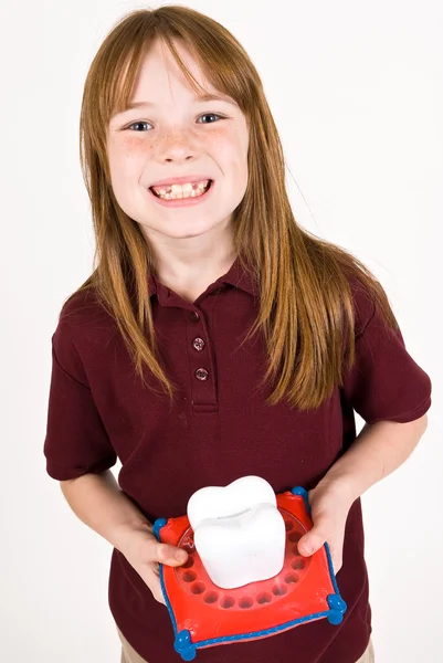
[[[342,484],[319,482],[308,492],[313,528],[298,541],[299,554],[310,557],[327,543],[333,558],[334,573],[342,566],[345,526],[352,498]]]

